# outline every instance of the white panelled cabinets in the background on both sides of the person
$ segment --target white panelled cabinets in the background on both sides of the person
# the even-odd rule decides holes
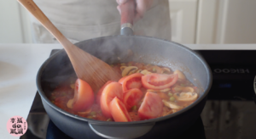
[[[255,0],[169,0],[172,41],[256,43]],[[15,0],[0,1],[0,43],[31,43],[29,14]]]

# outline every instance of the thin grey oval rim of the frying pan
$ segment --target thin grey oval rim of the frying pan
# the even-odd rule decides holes
[[[59,112],[61,114],[67,115],[68,117],[71,117],[71,118],[76,119],[76,120],[82,120],[82,121],[88,122],[88,123],[93,124],[93,125],[142,125],[142,124],[154,123],[154,122],[158,122],[158,121],[161,121],[161,120],[167,120],[167,119],[172,119],[174,117],[177,117],[178,115],[185,113],[189,109],[194,108],[195,105],[197,105],[198,103],[201,103],[201,101],[205,97],[207,97],[207,94],[208,94],[208,92],[209,92],[209,90],[211,89],[211,86],[212,86],[212,71],[211,71],[209,65],[207,64],[205,59],[201,57],[201,55],[199,55],[198,53],[195,53],[195,51],[193,51],[189,47],[185,47],[182,44],[179,44],[177,42],[162,40],[162,39],[152,37],[152,36],[121,36],[121,35],[119,35],[119,36],[101,36],[101,37],[97,37],[97,38],[92,38],[92,39],[89,39],[89,40],[84,40],[82,42],[75,43],[75,45],[77,45],[79,43],[84,43],[84,42],[102,40],[102,39],[106,39],[106,38],[109,38],[109,37],[110,38],[112,38],[112,37],[130,37],[130,38],[138,37],[138,38],[143,38],[143,39],[154,39],[154,40],[160,41],[160,42],[172,43],[172,44],[175,45],[175,47],[179,47],[179,48],[182,48],[186,51],[189,51],[189,53],[192,53],[198,60],[200,60],[201,64],[204,65],[204,68],[207,71],[207,81],[208,82],[207,82],[206,90],[204,92],[202,92],[201,97],[199,97],[195,101],[195,103],[190,104],[188,107],[183,108],[182,110],[180,110],[180,111],[178,111],[174,114],[169,114],[169,115],[166,115],[166,116],[163,116],[163,117],[159,117],[159,118],[155,118],[155,119],[151,119],[151,120],[140,120],[140,121],[131,121],[131,122],[109,122],[109,121],[102,121],[102,120],[90,120],[90,119],[87,119],[87,118],[84,118],[84,117],[80,117],[79,115],[68,113],[67,111],[65,111],[63,109],[58,108],[57,106],[55,106],[54,103],[51,103],[49,101],[48,97],[46,97],[45,93],[43,92],[43,89],[41,87],[40,77],[43,74],[44,67],[46,67],[47,64],[49,64],[49,62],[58,55],[58,53],[63,53],[63,51],[65,51],[64,49],[61,49],[57,53],[54,53],[52,56],[47,58],[44,61],[44,64],[42,64],[41,67],[38,70],[36,83],[37,83],[37,87],[38,87],[38,93],[39,93],[42,101],[45,101],[45,103],[48,103],[51,108],[54,108],[57,112]]]

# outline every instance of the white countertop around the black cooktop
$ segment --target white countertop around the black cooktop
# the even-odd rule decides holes
[[[185,46],[197,50],[256,50],[256,44],[187,44]],[[62,47],[60,44],[0,44],[0,138],[19,138],[9,134],[6,129],[7,121],[15,115],[27,118],[37,92],[38,69],[55,48]]]

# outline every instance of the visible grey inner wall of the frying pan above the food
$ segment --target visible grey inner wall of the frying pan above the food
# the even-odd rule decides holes
[[[129,61],[156,64],[180,69],[195,86],[201,88],[200,96],[210,86],[210,71],[203,59],[195,52],[175,42],[145,36],[107,36],[79,42],[76,46],[102,59],[108,64]],[[76,75],[67,53],[61,50],[55,53],[41,67],[40,88],[49,97],[56,86]],[[42,95],[41,95],[42,96]]]

